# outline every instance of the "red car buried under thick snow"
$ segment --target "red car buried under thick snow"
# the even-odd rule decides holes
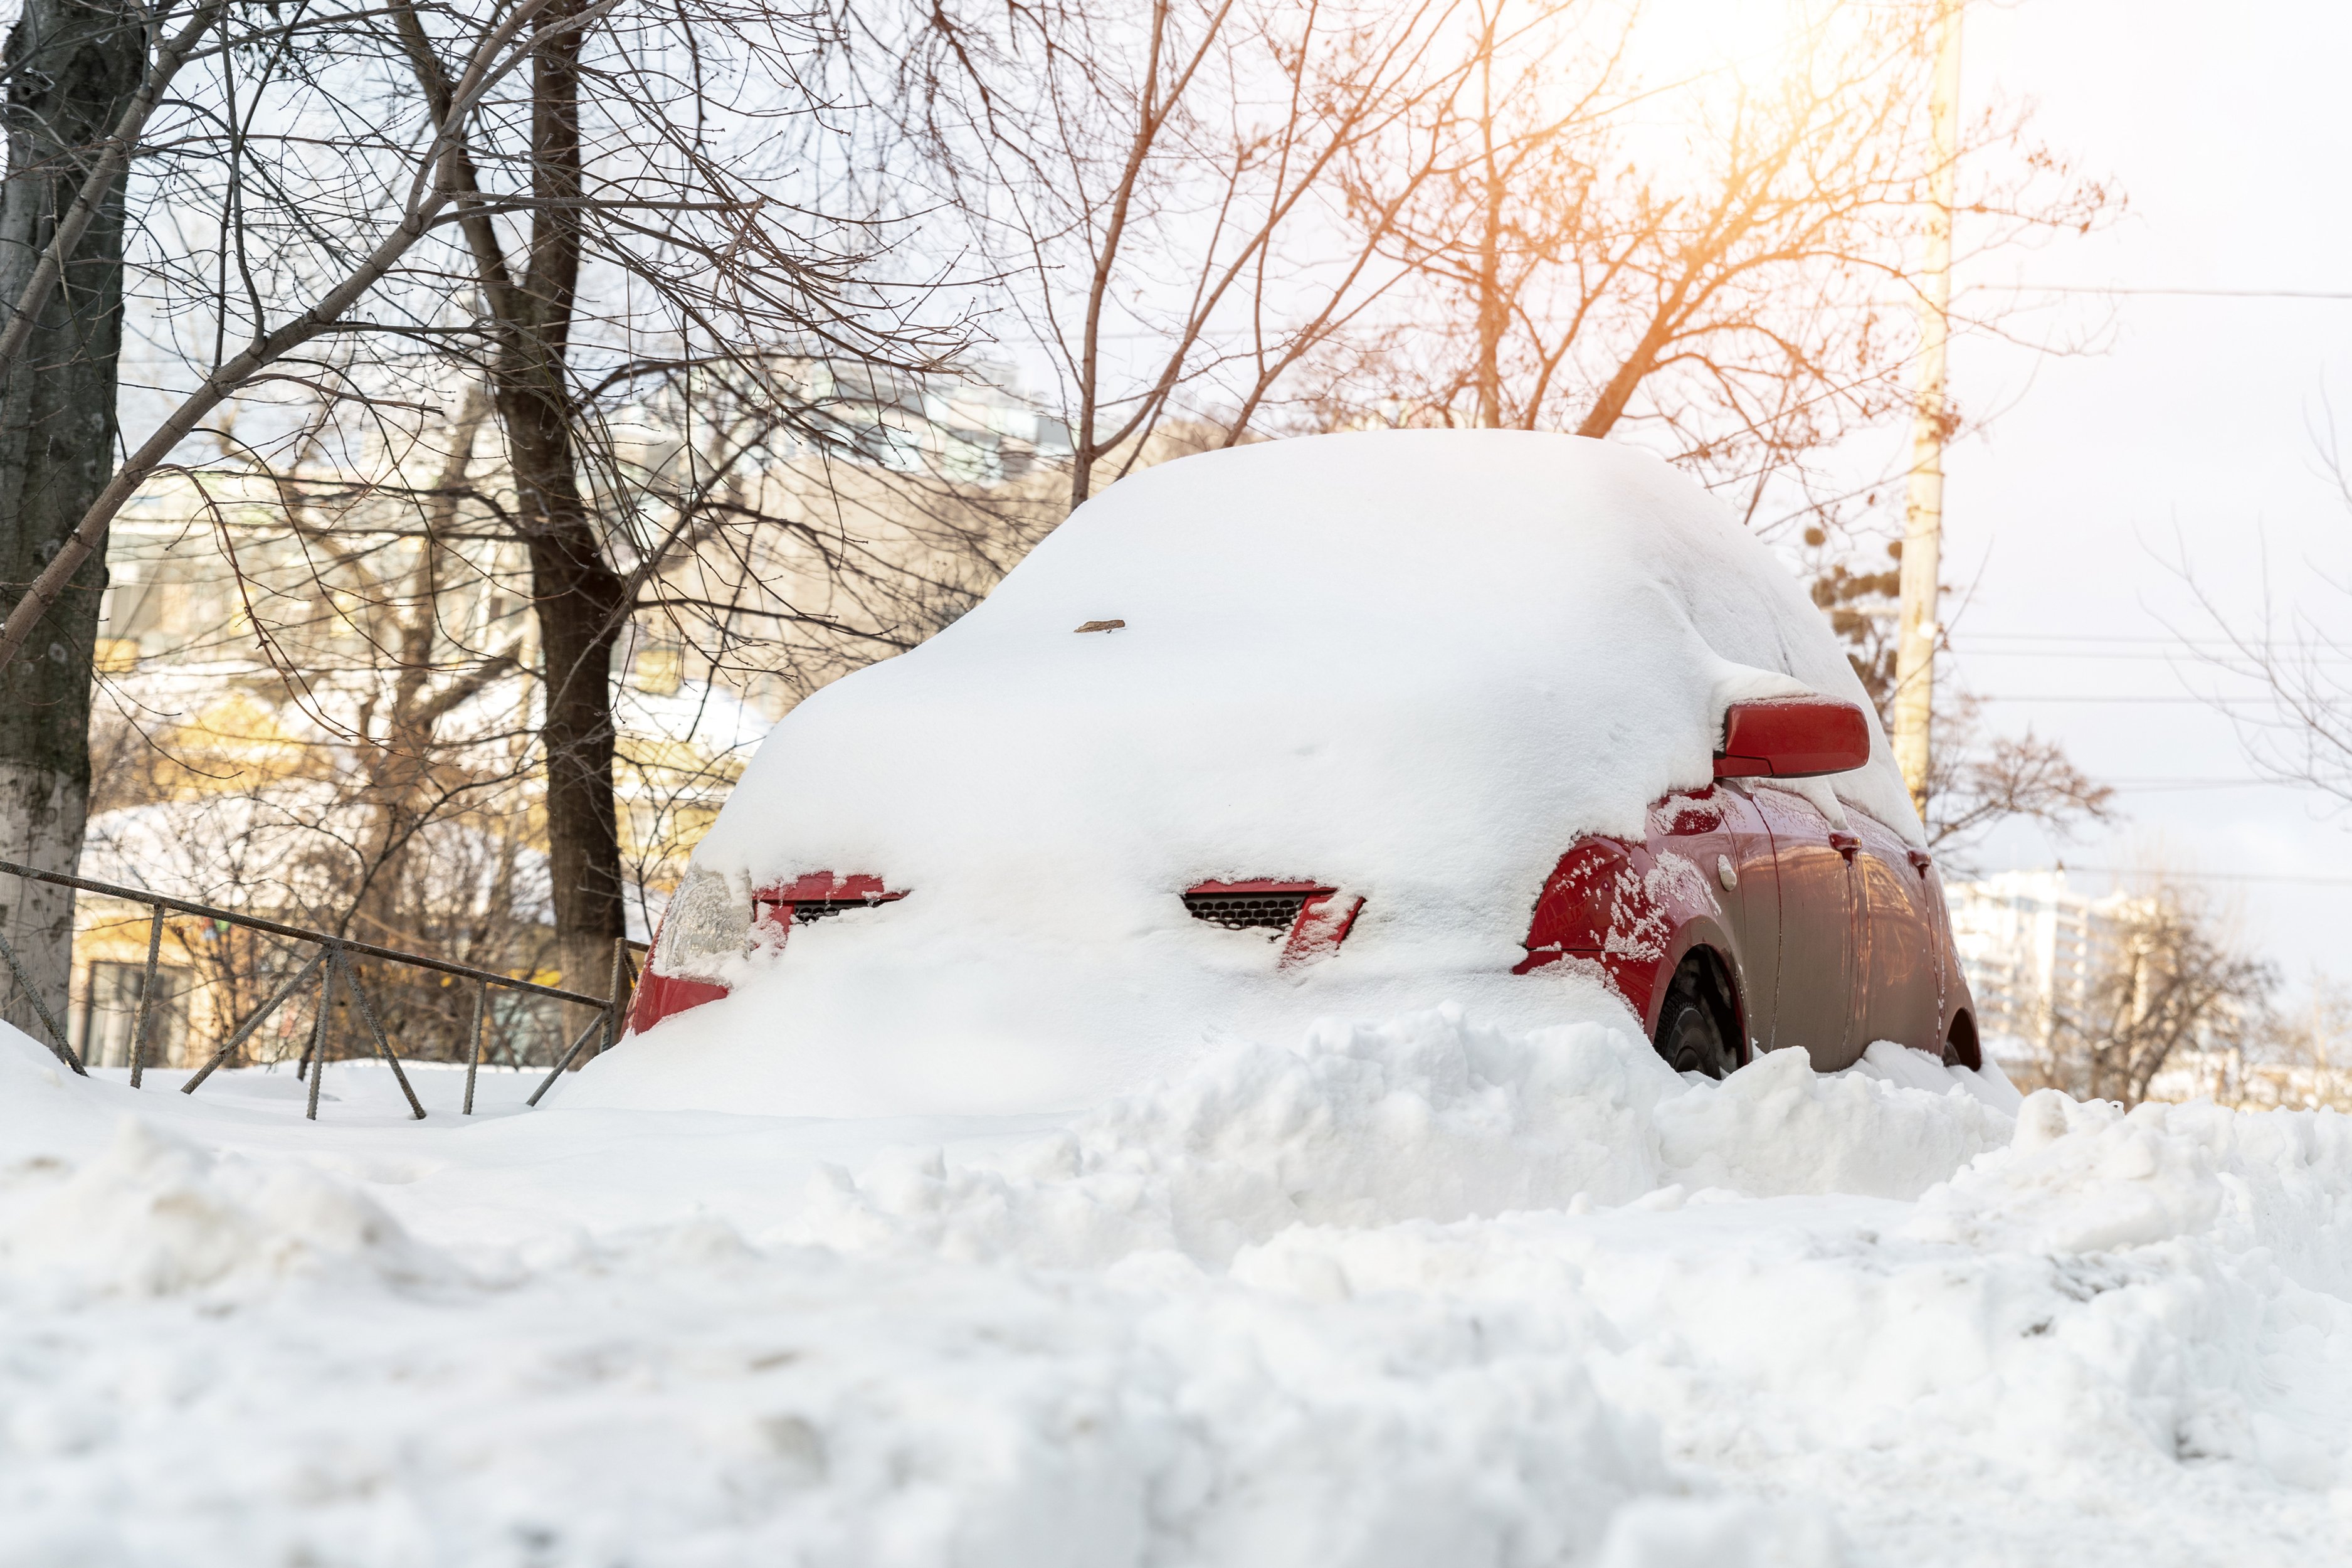
[[[1446,1003],[1630,1012],[1703,1074],[1978,1059],[1853,669],[1642,452],[1378,431],[1120,480],[776,725],[564,1102],[1061,1109]]]

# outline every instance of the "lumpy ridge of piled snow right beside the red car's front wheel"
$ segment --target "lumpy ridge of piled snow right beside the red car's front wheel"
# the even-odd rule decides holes
[[[1228,1045],[1004,1156],[950,1170],[938,1149],[901,1149],[861,1180],[826,1168],[802,1236],[1063,1267],[1169,1248],[1223,1267],[1294,1224],[1616,1205],[1668,1187],[1917,1198],[2009,1142],[2011,1118],[1987,1104],[2006,1083],[1969,1092],[1955,1081],[1980,1074],[1929,1064],[1931,1092],[1886,1067],[1917,1052],[1879,1052],[1823,1078],[1783,1050],[1710,1083],[1604,1024],[1517,1036],[1458,1008],[1322,1024],[1298,1052]]]

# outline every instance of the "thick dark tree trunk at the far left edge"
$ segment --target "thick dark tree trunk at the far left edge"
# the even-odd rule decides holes
[[[7,184],[0,188],[0,299],[14,301],[73,207],[87,158],[139,89],[139,9],[26,0],[7,40]],[[122,348],[122,181],[92,214],[0,384],[0,607],[14,610],[73,534],[115,466],[115,358]],[[31,657],[0,669],[0,855],[73,871],[89,815],[89,669],[106,551],[71,577]],[[0,928],[52,1015],[66,1017],[73,895],[0,878]],[[0,1017],[40,1031],[7,984]]]

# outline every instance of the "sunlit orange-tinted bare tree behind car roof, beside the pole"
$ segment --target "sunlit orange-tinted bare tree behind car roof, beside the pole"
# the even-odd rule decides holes
[[[1414,275],[1390,306],[1456,323],[1350,365],[1357,407],[1632,433],[1759,523],[1771,485],[1907,410],[1910,240],[1943,167],[1924,113],[1936,5],[1825,0],[1792,19],[1755,68],[1661,80],[1628,61],[1665,16],[1482,0],[1477,89],[1428,127],[1437,177],[1397,202],[1383,158],[1350,167],[1359,224]],[[1978,115],[1959,158],[1971,254],[2119,205],[2016,111]]]

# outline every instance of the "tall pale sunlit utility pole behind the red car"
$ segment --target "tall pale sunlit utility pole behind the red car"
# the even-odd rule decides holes
[[[1912,473],[1903,501],[1903,622],[1896,638],[1893,746],[1912,805],[1926,817],[1931,716],[1936,709],[1936,589],[1943,565],[1943,438],[1950,428],[1943,348],[1952,306],[1952,165],[1959,160],[1959,5],[1936,5],[1936,89],[1929,99],[1936,172],[1929,186],[1926,254],[1919,280],[1919,407],[1912,414]]]

